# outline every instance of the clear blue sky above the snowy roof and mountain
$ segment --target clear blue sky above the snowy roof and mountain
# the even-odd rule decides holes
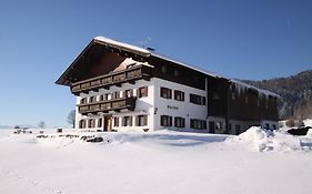
[[[179,2],[179,3],[178,3]],[[0,1],[0,125],[67,126],[56,85],[93,37],[148,47],[239,79],[312,69],[312,1]]]

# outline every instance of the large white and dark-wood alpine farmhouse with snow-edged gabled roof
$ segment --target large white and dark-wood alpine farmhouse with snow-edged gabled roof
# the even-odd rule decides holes
[[[239,134],[278,127],[279,95],[104,37],[57,80],[77,96],[76,127]]]

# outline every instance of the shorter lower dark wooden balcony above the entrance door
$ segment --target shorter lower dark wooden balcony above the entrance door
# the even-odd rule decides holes
[[[87,104],[79,104],[79,113],[80,114],[88,114],[88,113],[98,113],[104,112],[108,113],[109,111],[119,112],[120,110],[127,109],[130,111],[134,111],[137,98],[121,98],[121,99],[113,99],[108,101],[98,101]]]

